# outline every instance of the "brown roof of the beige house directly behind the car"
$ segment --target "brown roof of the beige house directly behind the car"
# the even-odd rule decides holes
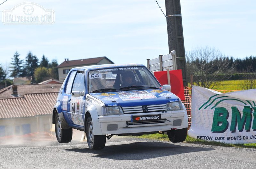
[[[72,60],[72,61],[65,60],[59,66],[57,66],[57,68],[69,67],[69,66],[81,66],[81,65],[94,65],[99,63],[102,59],[107,59],[111,63],[114,63],[111,60],[109,60],[106,56],[103,56],[103,57],[97,57],[97,58],[79,59],[79,60]]]

